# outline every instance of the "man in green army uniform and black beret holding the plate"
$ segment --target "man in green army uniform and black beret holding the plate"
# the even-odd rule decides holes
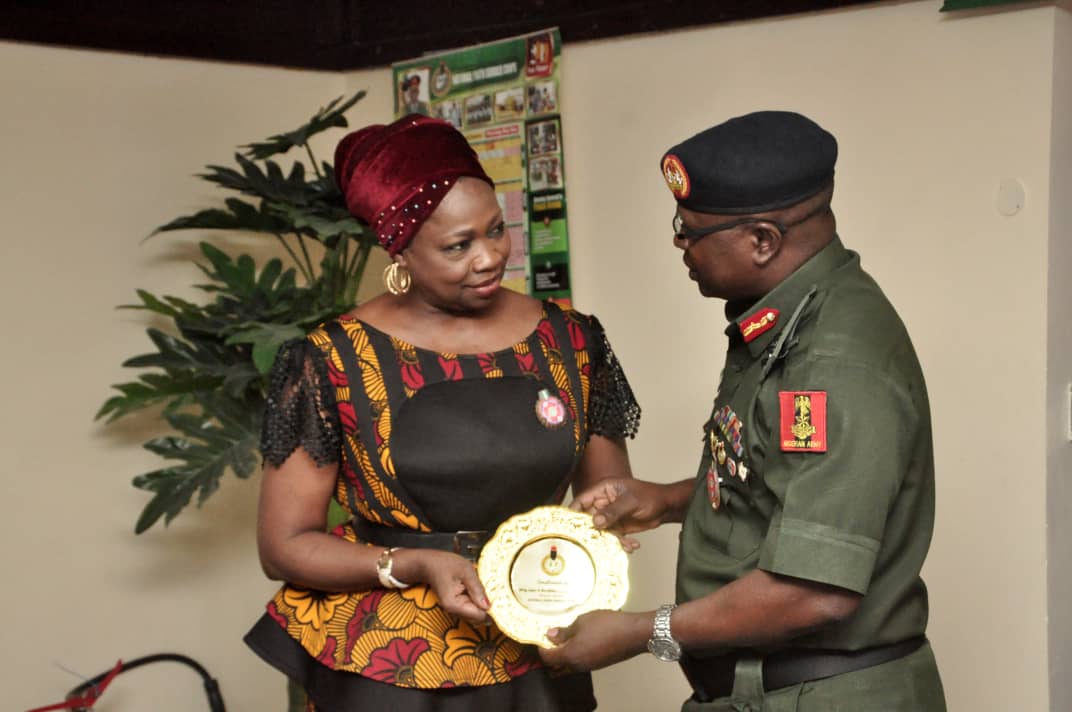
[[[934,525],[926,388],[893,307],[835,233],[837,143],[762,112],[670,149],[674,246],[726,300],[695,478],[605,480],[622,533],[682,522],[676,606],[549,632],[552,664],[679,661],[687,712],[944,710],[920,569]]]

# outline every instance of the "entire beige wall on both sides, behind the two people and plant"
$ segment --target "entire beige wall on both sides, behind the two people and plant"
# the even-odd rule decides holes
[[[1061,130],[1072,116],[1062,88],[1070,21],[1046,5],[943,16],[939,4],[567,46],[575,295],[607,326],[644,406],[631,446],[638,474],[691,474],[724,320],[671,248],[658,158],[756,108],[795,108],[831,129],[842,147],[840,233],[900,309],[930,386],[939,502],[925,576],[950,707],[1042,710],[1047,664],[1059,684],[1072,634],[1067,618],[1052,618],[1047,656],[1046,473],[1052,500],[1067,499],[1069,470],[1053,425],[1055,384],[1072,377],[1072,346],[1060,340],[1069,314],[1047,313],[1047,298],[1070,296],[1058,278],[1072,262],[1060,239],[1072,217],[1049,202],[1051,174],[1055,194],[1072,186]],[[332,75],[0,44],[0,310],[11,335],[0,377],[12,404],[0,416],[0,561],[17,582],[0,589],[13,611],[0,668],[19,681],[8,688],[12,709],[72,686],[59,665],[90,674],[168,649],[204,662],[230,709],[281,709],[279,677],[239,640],[273,588],[254,553],[255,479],[229,479],[203,510],[135,537],[145,495],[129,480],[159,464],[137,447],[152,422],[106,429],[91,418],[107,384],[129,377],[120,361],[146,343],[142,316],[113,307],[137,286],[187,294],[196,279],[177,247],[188,238],[140,238],[219,198],[191,177],[205,163],[354,88],[370,90],[354,124],[389,117],[385,70]],[[1014,217],[995,207],[1007,176],[1027,190]],[[1061,335],[1048,356],[1047,326]],[[1047,403],[1048,437],[1037,415]],[[1056,551],[1061,530],[1052,531]],[[630,607],[670,598],[674,545],[669,529],[645,535]],[[1067,566],[1049,567],[1057,600],[1072,588]],[[120,678],[99,709],[204,709],[193,676],[170,672]],[[685,696],[676,669],[646,657],[600,672],[597,688],[607,710],[675,709]],[[1052,709],[1068,699],[1055,692]]]

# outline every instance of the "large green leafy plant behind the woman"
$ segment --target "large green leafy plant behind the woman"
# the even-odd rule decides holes
[[[376,247],[366,225],[351,217],[331,165],[318,163],[309,139],[346,127],[344,113],[364,92],[336,99],[304,125],[242,146],[235,167],[209,165],[198,177],[232,192],[224,207],[200,210],[158,227],[152,235],[192,229],[239,231],[273,239],[285,251],[257,265],[199,242],[207,281],[204,303],[138,290],[139,309],[170,322],[148,328],[154,350],[123,366],[136,380],[96,414],[108,422],[161,407],[170,433],[145,448],[170,464],[134,478],[152,492],[135,524],[142,533],[162,517],[170,522],[196,494],[200,506],[228,471],[257,470],[257,444],[268,372],[280,346],[354,305],[369,255]],[[284,170],[276,157],[303,151]],[[314,259],[314,254],[319,255]]]

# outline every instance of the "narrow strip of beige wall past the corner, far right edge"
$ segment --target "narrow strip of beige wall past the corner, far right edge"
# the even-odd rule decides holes
[[[1072,9],[1072,4],[1068,5]],[[1058,10],[1051,128],[1049,310],[1046,350],[1051,709],[1072,709],[1072,12]]]

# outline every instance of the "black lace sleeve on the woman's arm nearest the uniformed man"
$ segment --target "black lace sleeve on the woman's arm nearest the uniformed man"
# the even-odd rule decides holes
[[[591,320],[593,348],[589,435],[636,437],[640,429],[640,405],[602,325],[595,316]]]

